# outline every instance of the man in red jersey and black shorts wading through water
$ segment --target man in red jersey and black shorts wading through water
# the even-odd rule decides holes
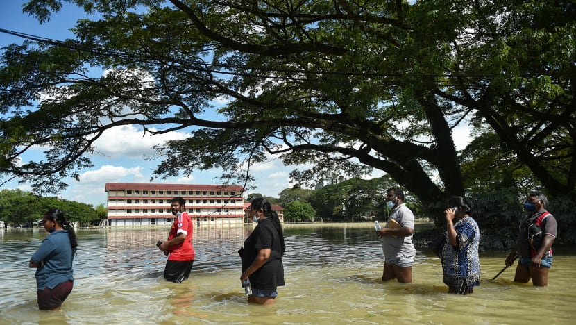
[[[185,201],[182,197],[172,199],[172,214],[176,215],[176,218],[170,228],[168,241],[162,242],[160,249],[168,255],[164,278],[180,283],[188,278],[194,263],[192,219],[185,212]]]

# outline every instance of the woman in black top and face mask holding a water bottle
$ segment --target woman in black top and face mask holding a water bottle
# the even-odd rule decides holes
[[[262,197],[251,202],[250,217],[258,225],[244,241],[240,281],[250,279],[248,302],[273,303],[278,295],[276,288],[284,285],[282,256],[286,246],[282,225],[270,202]]]

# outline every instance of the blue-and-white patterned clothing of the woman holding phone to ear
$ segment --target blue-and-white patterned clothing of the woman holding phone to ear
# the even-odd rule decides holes
[[[440,252],[444,283],[450,292],[466,294],[480,285],[480,228],[472,217],[466,215],[454,224],[457,247],[450,244],[444,233],[445,244]]]

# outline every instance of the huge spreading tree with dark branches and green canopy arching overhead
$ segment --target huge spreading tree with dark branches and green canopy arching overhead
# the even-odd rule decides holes
[[[102,133],[135,124],[190,132],[156,148],[157,176],[234,180],[279,155],[312,166],[301,183],[380,169],[439,208],[466,192],[452,129],[468,124],[575,197],[573,1],[68,2],[99,19],[0,59],[5,178],[59,190]],[[61,3],[24,11],[44,22]],[[18,163],[39,145],[45,160]]]

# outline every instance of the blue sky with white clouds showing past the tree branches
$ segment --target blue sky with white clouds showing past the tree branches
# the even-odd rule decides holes
[[[41,36],[64,40],[71,38],[69,28],[73,27],[77,19],[86,17],[86,14],[75,6],[65,4],[65,7],[53,15],[50,22],[40,25],[33,17],[22,13],[24,0],[0,0],[0,28]],[[0,47],[8,44],[20,44],[22,38],[0,33]],[[123,126],[105,133],[103,138],[96,142],[96,151],[99,155],[91,156],[94,167],[80,171],[80,181],[70,179],[67,181],[69,187],[60,193],[63,199],[90,203],[94,206],[106,202],[105,183],[149,183],[155,166],[160,160],[144,160],[144,156],[153,156],[151,147],[173,138],[184,138],[185,133],[170,133],[166,135],[155,135],[153,137],[144,135],[141,129],[135,126]],[[465,146],[468,139],[468,130],[460,128],[455,130],[455,141],[457,147]],[[31,156],[41,153],[32,152]],[[29,159],[22,157],[23,160]],[[294,166],[285,167],[278,159],[271,159],[268,163],[258,164],[251,167],[251,171],[256,177],[255,190],[246,192],[258,192],[270,197],[278,197],[278,194],[285,188],[291,188],[294,184],[289,183],[289,172]],[[168,178],[167,180],[155,180],[154,183],[191,183],[191,184],[217,184],[217,178],[221,172],[219,170],[193,171],[190,178]],[[381,176],[381,172],[375,172],[367,178]],[[21,188],[31,190],[26,185],[19,185],[17,181],[11,181],[3,188]]]

